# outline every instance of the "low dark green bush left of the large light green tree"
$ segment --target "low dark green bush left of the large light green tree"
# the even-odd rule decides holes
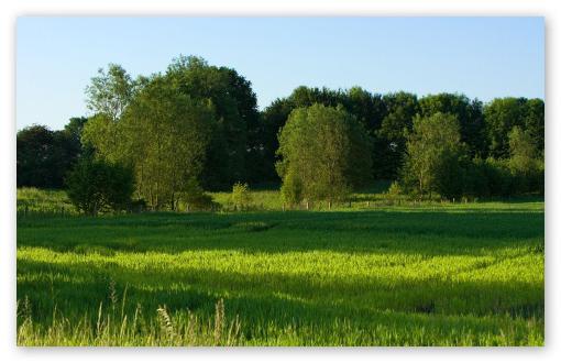
[[[134,178],[130,168],[82,157],[69,173],[67,194],[70,202],[87,215],[125,210],[131,204]]]

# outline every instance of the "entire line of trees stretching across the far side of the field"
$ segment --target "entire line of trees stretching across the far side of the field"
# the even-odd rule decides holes
[[[235,69],[193,56],[135,79],[110,64],[86,97],[92,117],[18,132],[18,186],[68,187],[96,162],[130,173],[125,189],[154,209],[240,182],[282,182],[289,205],[331,204],[375,179],[419,198],[543,193],[541,99],[298,87],[260,111]]]

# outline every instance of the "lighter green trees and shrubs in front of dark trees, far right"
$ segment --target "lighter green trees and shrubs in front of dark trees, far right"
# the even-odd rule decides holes
[[[508,157],[471,157],[455,116],[418,116],[407,134],[400,183],[421,198],[432,193],[449,199],[543,194],[543,158],[530,132],[514,127],[506,139]]]

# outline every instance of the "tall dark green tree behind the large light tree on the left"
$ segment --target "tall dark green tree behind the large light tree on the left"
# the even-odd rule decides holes
[[[260,160],[262,131],[251,82],[234,69],[209,66],[205,59],[193,56],[174,59],[166,77],[182,94],[209,99],[215,107],[218,128],[208,150],[204,185],[220,189],[235,180],[255,178],[256,175],[248,173],[246,162]],[[260,165],[255,166],[254,173],[258,173]]]

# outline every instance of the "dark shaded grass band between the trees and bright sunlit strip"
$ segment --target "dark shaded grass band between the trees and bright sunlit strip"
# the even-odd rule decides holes
[[[543,212],[265,212],[155,213],[18,221],[18,246],[78,252],[246,253],[333,251],[481,254],[505,248],[543,252]]]

